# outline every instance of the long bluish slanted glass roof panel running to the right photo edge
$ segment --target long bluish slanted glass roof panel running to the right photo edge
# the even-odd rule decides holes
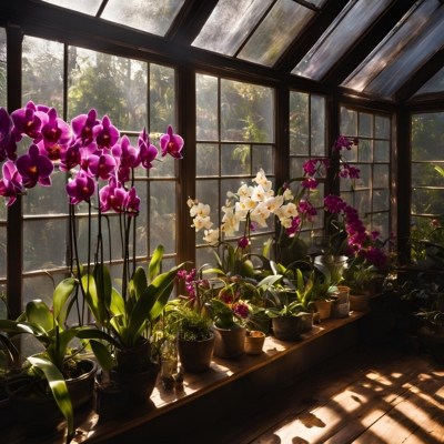
[[[392,99],[401,85],[444,44],[443,22],[444,4],[432,14],[421,33],[406,44],[396,59],[364,91]]]

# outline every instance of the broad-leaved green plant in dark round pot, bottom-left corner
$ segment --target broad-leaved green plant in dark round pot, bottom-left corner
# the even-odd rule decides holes
[[[17,321],[0,320],[0,332],[30,334],[44,346],[43,353],[27,357],[22,372],[7,383],[13,414],[29,431],[54,426],[63,414],[68,436],[72,436],[73,408],[92,397],[97,364],[80,359],[80,351],[68,352],[74,337],[91,340],[97,343],[97,350],[103,347],[97,342],[103,339],[118,345],[92,326],[64,327],[70,310],[67,302],[75,285],[72,278],[62,281],[54,290],[51,309],[40,300],[30,301]],[[12,351],[13,342],[1,337]],[[109,369],[110,361],[102,360],[100,353],[98,357],[100,364]]]

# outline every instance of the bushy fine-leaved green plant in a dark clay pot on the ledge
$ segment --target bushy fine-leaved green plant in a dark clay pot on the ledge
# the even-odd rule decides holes
[[[165,307],[165,329],[178,337],[181,365],[186,372],[200,373],[210,367],[214,350],[211,317],[199,307],[175,300]]]

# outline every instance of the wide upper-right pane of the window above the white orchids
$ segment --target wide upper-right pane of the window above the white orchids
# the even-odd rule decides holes
[[[221,80],[221,139],[233,142],[273,142],[273,90]]]

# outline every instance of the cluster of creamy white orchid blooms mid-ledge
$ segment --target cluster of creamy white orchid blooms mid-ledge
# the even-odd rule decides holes
[[[252,181],[256,185],[248,186],[243,184],[236,193],[231,191],[226,193],[229,199],[225,206],[222,206],[224,215],[220,230],[228,236],[234,235],[239,230],[240,223],[246,221],[248,218],[259,226],[265,228],[268,226],[266,219],[271,214],[275,214],[283,226],[290,228],[292,219],[299,215],[296,205],[291,202],[294,196],[290,189],[286,189],[283,195],[274,196],[272,183],[266,179],[262,169]],[[235,200],[234,204],[231,198]],[[287,203],[284,204],[284,202]],[[205,236],[203,240],[205,242],[216,242],[219,240],[219,229],[211,229],[213,222],[210,220],[210,205],[193,199],[189,199],[186,203],[190,206],[190,215],[194,218],[191,226],[194,226],[196,232],[204,229]]]

